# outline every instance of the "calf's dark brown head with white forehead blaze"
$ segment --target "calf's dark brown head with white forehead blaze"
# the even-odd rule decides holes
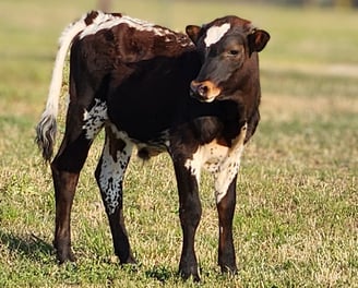
[[[237,16],[217,19],[202,27],[189,25],[186,31],[202,59],[202,69],[190,85],[191,95],[206,103],[229,96],[232,80],[237,82],[255,69],[246,63],[270,39],[267,32]]]

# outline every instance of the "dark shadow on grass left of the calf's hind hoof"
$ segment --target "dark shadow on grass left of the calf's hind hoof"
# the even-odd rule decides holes
[[[20,256],[40,262],[46,261],[53,254],[52,245],[33,233],[16,236],[0,230],[0,245],[8,248]]]

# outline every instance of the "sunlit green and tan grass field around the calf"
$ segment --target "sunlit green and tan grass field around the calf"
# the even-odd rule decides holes
[[[34,145],[34,127],[45,106],[60,32],[94,9],[95,1],[2,0],[0,287],[358,287],[358,11],[238,1],[117,2],[117,11],[176,29],[237,14],[272,35],[261,55],[262,121],[247,147],[238,184],[240,273],[223,276],[216,265],[217,216],[204,175],[196,237],[202,283],[177,276],[181,231],[166,155],[145,165],[134,157],[129,167],[126,217],[140,264],[120,267],[93,178],[102,136],[73,207],[79,261],[57,265],[52,182]]]

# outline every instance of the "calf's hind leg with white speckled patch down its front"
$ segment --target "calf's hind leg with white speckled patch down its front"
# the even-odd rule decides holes
[[[109,220],[115,253],[120,263],[135,263],[123,218],[122,182],[133,144],[106,127],[106,143],[96,168],[96,180]]]

